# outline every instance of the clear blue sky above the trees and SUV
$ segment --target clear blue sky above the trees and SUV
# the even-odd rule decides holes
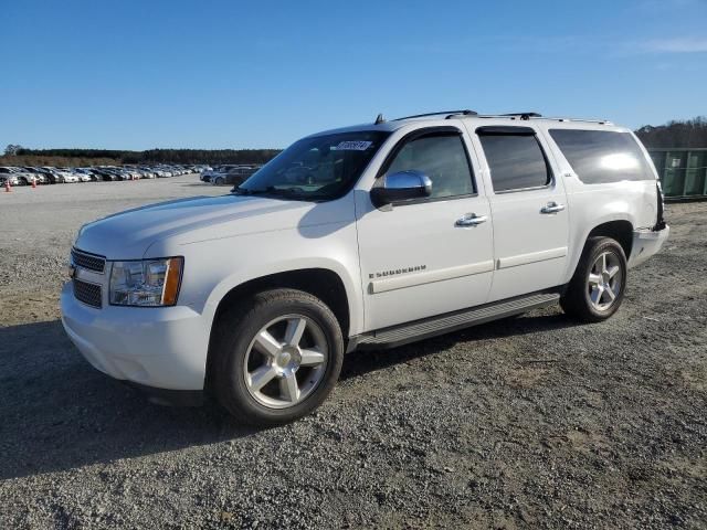
[[[285,147],[421,112],[707,114],[707,0],[0,7],[0,146]]]

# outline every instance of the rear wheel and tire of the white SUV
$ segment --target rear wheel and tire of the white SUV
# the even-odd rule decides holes
[[[590,237],[560,306],[583,322],[606,320],[621,307],[626,271],[626,255],[615,240]]]

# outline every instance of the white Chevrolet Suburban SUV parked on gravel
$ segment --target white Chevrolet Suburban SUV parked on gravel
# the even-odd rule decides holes
[[[609,318],[667,234],[629,129],[379,116],[295,142],[229,194],[83,226],[63,324],[94,367],[158,399],[207,389],[276,424],[319,405],[356,348],[558,301]]]

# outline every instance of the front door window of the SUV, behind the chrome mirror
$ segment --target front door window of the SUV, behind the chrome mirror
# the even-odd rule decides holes
[[[462,137],[456,134],[431,135],[407,142],[386,171],[415,169],[432,180],[431,199],[475,193],[472,170]]]

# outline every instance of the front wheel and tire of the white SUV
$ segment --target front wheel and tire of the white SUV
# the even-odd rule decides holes
[[[260,293],[226,311],[217,326],[210,382],[221,405],[241,422],[292,422],[319,406],[336,384],[344,360],[341,328],[308,293]],[[288,332],[300,339],[288,340]]]

